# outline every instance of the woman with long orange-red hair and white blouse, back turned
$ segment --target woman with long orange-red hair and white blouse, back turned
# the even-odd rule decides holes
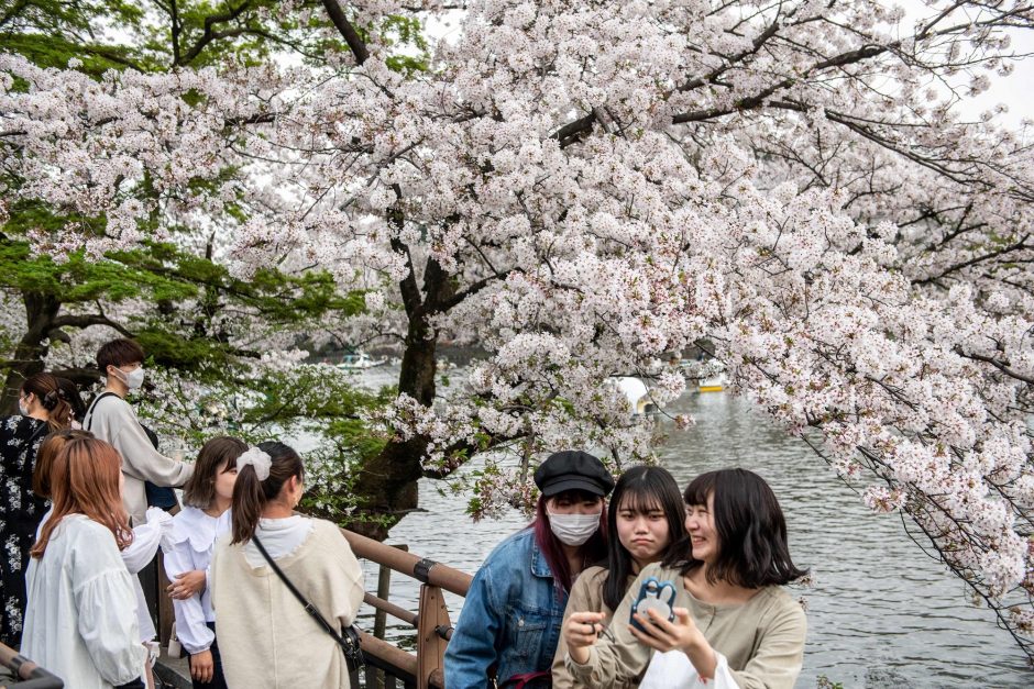
[[[76,689],[142,687],[136,594],[120,551],[133,538],[119,453],[76,438],[51,473],[54,501],[33,546],[22,654]]]

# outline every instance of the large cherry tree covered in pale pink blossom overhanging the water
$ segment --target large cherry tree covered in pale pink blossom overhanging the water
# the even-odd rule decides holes
[[[529,500],[548,449],[649,457],[609,380],[663,403],[685,385],[668,353],[707,348],[1031,655],[1034,166],[1027,133],[958,114],[1023,57],[1028,2],[484,0],[422,70],[364,27],[439,3],[323,5],[349,53],[297,68],[94,81],[0,58],[13,198],[107,219],[34,245],[189,216],[239,276],[311,264],[365,290],[361,325],[403,360],[351,487],[388,525],[488,449],[521,462],[490,455],[479,514]],[[131,202],[142,185],[162,205]],[[485,356],[443,389],[446,340]]]

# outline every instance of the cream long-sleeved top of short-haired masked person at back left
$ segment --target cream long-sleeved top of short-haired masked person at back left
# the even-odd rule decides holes
[[[82,420],[82,427],[111,443],[122,455],[122,474],[125,476],[122,502],[133,525],[143,523],[147,510],[144,481],[179,487],[194,474],[193,464],[172,459],[154,448],[133,408],[117,394],[98,400]]]

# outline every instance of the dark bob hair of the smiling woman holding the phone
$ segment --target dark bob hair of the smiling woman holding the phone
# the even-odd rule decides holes
[[[756,589],[782,586],[807,574],[790,559],[787,520],[776,493],[760,476],[747,469],[719,469],[697,476],[686,487],[686,505],[707,504],[714,496],[714,523],[718,534],[718,557],[707,568],[707,580],[727,581]],[[693,559],[690,541],[683,574],[704,563]]]

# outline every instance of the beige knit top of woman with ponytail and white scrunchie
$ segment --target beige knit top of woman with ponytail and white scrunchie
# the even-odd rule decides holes
[[[363,571],[332,523],[312,520],[312,531],[276,564],[331,624],[355,620],[363,602]],[[216,641],[230,687],[348,689],[341,647],[305,611],[268,565],[252,567],[230,535],[216,546],[211,565]]]

